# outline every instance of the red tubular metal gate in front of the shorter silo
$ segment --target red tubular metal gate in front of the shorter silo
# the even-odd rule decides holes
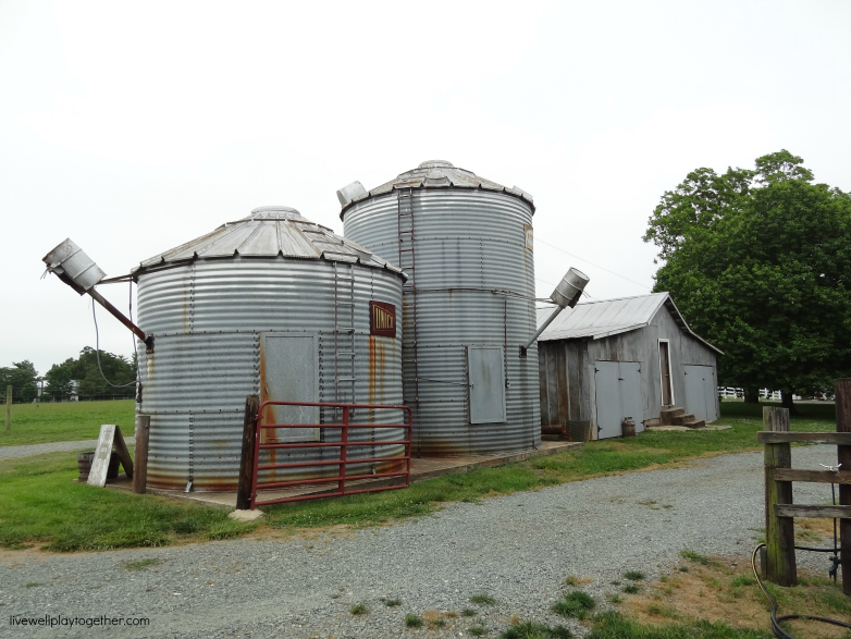
[[[267,406],[319,406],[323,408],[341,408],[343,410],[343,420],[340,423],[267,423],[263,421],[263,414]],[[353,408],[358,409],[395,409],[405,410],[408,414],[406,423],[349,423],[349,411]],[[316,500],[321,497],[335,497],[342,495],[358,494],[363,492],[378,492],[381,490],[396,490],[399,488],[408,488],[410,484],[410,434],[411,434],[412,415],[410,408],[407,406],[390,406],[382,404],[324,404],[319,402],[263,402],[260,404],[260,408],[257,411],[257,428],[255,431],[255,458],[254,458],[254,472],[251,477],[251,509],[255,506],[263,506],[268,504],[281,504],[284,502],[298,502],[304,500]],[[264,429],[292,429],[292,428],[319,428],[319,429],[341,429],[341,437],[338,442],[289,442],[289,443],[261,443],[262,438],[260,433]],[[404,440],[382,440],[382,441],[349,441],[348,433],[351,429],[387,429],[387,428],[404,428],[407,430],[407,437]],[[320,438],[321,439],[321,438]],[[405,455],[396,457],[368,457],[362,458],[348,458],[348,450],[356,446],[381,446],[381,445],[394,445],[404,444]],[[323,448],[323,447],[337,447],[340,448],[340,458],[336,460],[321,460],[321,462],[296,462],[287,464],[263,464],[260,465],[260,450],[294,450],[294,448]],[[405,462],[405,470],[398,470],[393,472],[379,472],[370,475],[346,475],[346,468],[349,464],[371,464],[382,462]],[[272,470],[283,468],[321,468],[323,466],[337,466],[338,472],[335,477],[323,477],[319,479],[295,479],[287,481],[271,481],[259,483],[258,474],[260,470]],[[356,488],[355,490],[347,490],[347,481],[356,481],[360,479],[377,479],[380,477],[404,477],[405,483],[398,486],[383,486],[375,488]],[[322,492],[306,495],[295,495],[288,497],[280,497],[275,500],[257,501],[257,491],[261,489],[273,488],[288,488],[294,486],[309,486],[321,483],[336,483],[337,490],[334,492]]]

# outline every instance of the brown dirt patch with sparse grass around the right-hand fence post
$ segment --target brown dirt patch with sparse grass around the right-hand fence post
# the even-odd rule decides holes
[[[735,628],[770,630],[770,602],[760,590],[750,556],[711,557],[708,566],[683,561],[640,593],[624,597],[617,607],[644,624],[683,620],[724,622]],[[687,572],[683,572],[687,570]],[[769,586],[779,615],[811,614],[851,623],[851,600],[821,575],[799,574],[799,586]],[[793,634],[813,639],[839,639],[847,630],[818,622],[792,622]]]

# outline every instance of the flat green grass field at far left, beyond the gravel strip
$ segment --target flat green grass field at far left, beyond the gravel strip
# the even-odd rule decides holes
[[[0,427],[0,446],[96,440],[101,423],[116,423],[133,437],[135,410],[133,400],[13,404],[12,430]]]

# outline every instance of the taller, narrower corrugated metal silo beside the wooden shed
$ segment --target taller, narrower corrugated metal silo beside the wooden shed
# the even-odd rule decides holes
[[[404,398],[414,451],[540,446],[532,197],[433,160],[340,192],[346,237],[393,260],[404,286]]]

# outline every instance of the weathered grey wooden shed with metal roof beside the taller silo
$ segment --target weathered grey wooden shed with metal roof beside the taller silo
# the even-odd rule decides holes
[[[538,310],[538,322],[551,314]],[[721,351],[689,328],[668,293],[577,305],[539,337],[541,425],[579,440],[657,423],[662,411],[696,428],[718,418],[716,359]]]

